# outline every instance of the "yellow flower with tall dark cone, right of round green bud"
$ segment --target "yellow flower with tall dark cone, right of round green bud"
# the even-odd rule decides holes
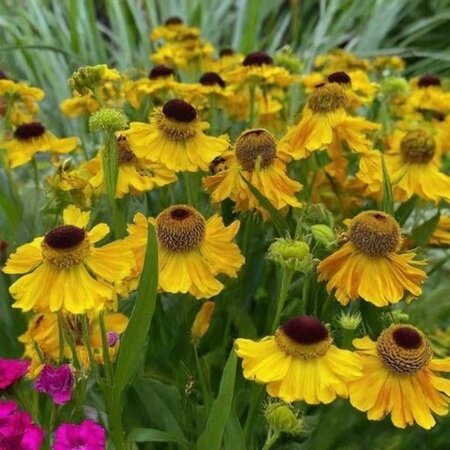
[[[207,136],[207,122],[184,100],[169,100],[153,113],[150,124],[132,122],[123,131],[138,158],[164,164],[175,172],[208,170],[209,163],[228,147],[225,136]]]

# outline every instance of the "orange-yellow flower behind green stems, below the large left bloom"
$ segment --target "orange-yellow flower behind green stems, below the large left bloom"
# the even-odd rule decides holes
[[[80,316],[64,314],[62,316],[65,328],[75,343],[76,356],[84,369],[90,366],[89,355],[86,350],[83,328]],[[100,324],[95,315],[88,319],[88,333],[95,362],[103,364],[102,338]],[[119,349],[120,335],[125,331],[128,318],[120,313],[108,312],[105,314],[105,328],[109,344],[109,356],[112,361]],[[43,362],[58,361],[60,355],[59,328],[56,314],[37,314],[28,323],[27,331],[19,336],[24,344],[24,356],[31,360],[30,377],[35,378],[42,369]],[[38,352],[39,350],[39,352]],[[73,361],[72,350],[65,340],[63,355]]]

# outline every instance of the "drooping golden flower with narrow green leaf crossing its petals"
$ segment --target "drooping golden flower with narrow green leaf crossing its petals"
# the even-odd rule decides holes
[[[230,198],[238,211],[257,209],[267,218],[267,211],[242,179],[245,177],[275,208],[300,206],[295,194],[302,186],[287,176],[286,164],[278,158],[277,144],[268,131],[262,128],[244,131],[235,148],[235,152],[215,160],[212,169],[217,173],[203,180],[214,203]]]

